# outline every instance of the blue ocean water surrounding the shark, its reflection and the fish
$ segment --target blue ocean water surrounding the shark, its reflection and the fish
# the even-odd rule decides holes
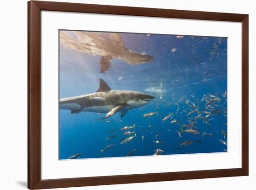
[[[67,33],[77,38],[73,31]],[[96,34],[110,38],[110,33]],[[156,149],[161,149],[162,155],[227,151],[227,135],[225,138],[223,135],[227,133],[227,38],[120,34],[126,49],[146,52],[154,60],[131,65],[113,58],[111,67],[101,73],[99,53],[92,55],[60,43],[60,98],[96,92],[99,79],[103,79],[113,90],[144,92],[155,99],[128,111],[123,118],[120,112],[98,120],[106,113],[71,114],[70,110],[60,110],[60,159],[78,153],[81,153],[79,158],[124,157],[133,150],[136,151],[132,156],[153,155]],[[196,111],[188,115],[193,110]],[[200,111],[208,111],[210,115]],[[150,112],[157,114],[142,116]],[[171,121],[176,122],[171,124]],[[192,129],[200,134],[182,132],[190,129],[185,125],[191,122]],[[130,131],[135,131],[136,137],[121,144],[129,136],[120,129],[134,124]],[[150,124],[152,127],[148,129]],[[113,134],[114,138],[106,140]],[[157,140],[164,143],[157,144],[154,142]],[[190,143],[180,145],[186,141]],[[110,144],[114,146],[100,151]]]

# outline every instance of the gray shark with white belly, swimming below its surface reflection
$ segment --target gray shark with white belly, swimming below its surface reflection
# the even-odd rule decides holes
[[[118,111],[123,117],[128,110],[146,105],[153,99],[155,97],[142,92],[112,90],[103,79],[100,79],[100,87],[94,93],[61,98],[60,109],[71,110],[71,113],[74,114],[81,111],[107,113],[105,117],[101,118],[105,119]]]

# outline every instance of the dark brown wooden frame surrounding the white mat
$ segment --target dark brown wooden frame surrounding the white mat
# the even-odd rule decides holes
[[[119,14],[242,22],[242,168],[41,180],[40,176],[40,11]],[[249,15],[49,1],[28,2],[28,188],[48,189],[249,175]]]

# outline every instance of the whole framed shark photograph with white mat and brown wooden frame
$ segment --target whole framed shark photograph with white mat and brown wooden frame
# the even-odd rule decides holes
[[[28,188],[249,175],[249,15],[28,2]]]

